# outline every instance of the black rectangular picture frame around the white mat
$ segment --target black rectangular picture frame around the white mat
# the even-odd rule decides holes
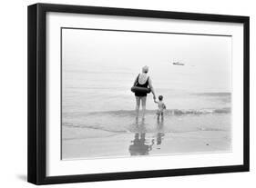
[[[243,24],[243,164],[202,168],[169,169],[124,173],[97,173],[46,176],[46,13],[122,15],[135,17],[199,20]],[[82,5],[36,4],[28,6],[28,137],[27,181],[35,184],[80,183],[133,178],[192,175],[204,173],[248,172],[250,161],[250,18],[237,15],[208,15],[153,10],[123,9]]]

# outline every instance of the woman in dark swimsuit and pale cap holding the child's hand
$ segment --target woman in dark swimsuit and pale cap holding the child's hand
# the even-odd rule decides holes
[[[138,87],[148,87],[151,89],[151,92],[153,94],[153,99],[156,100],[156,94],[152,85],[152,81],[148,76],[148,66],[142,67],[142,73],[138,74],[137,78],[135,79],[134,85],[137,85]],[[138,122],[138,111],[139,111],[139,105],[141,101],[142,105],[142,121],[145,119],[145,111],[146,111],[146,102],[147,102],[147,94],[146,93],[135,93],[136,98],[136,121]]]

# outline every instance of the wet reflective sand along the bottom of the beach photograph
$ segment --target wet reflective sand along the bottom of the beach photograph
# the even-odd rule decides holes
[[[63,160],[231,151],[229,131],[115,134],[63,127],[63,133]]]

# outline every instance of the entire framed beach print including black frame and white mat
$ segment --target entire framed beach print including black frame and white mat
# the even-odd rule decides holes
[[[249,17],[28,6],[28,182],[249,171]]]

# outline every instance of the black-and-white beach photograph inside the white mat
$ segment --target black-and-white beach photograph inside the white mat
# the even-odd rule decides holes
[[[61,159],[232,151],[232,36],[61,30]]]

